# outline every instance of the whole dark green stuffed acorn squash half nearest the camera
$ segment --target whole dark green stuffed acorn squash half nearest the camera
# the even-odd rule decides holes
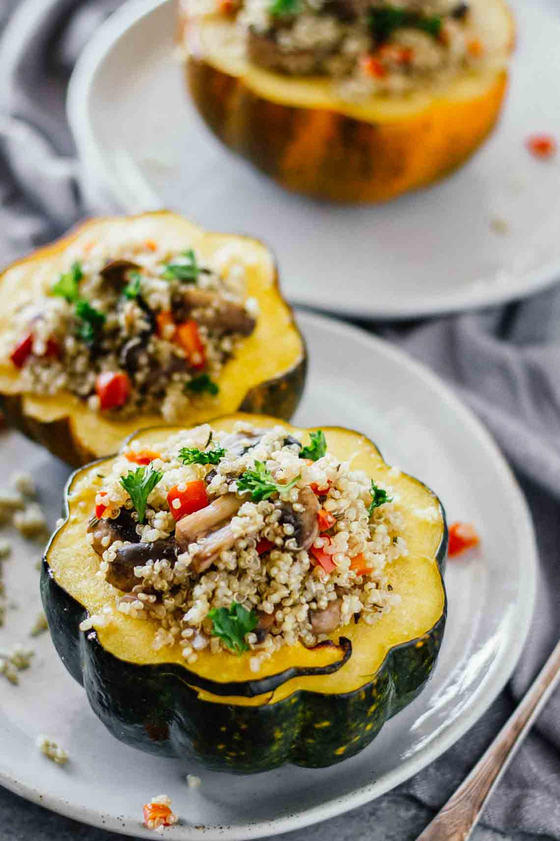
[[[358,432],[232,415],[81,468],[47,547],[55,647],[124,743],[249,773],[357,754],[436,664],[437,496]]]

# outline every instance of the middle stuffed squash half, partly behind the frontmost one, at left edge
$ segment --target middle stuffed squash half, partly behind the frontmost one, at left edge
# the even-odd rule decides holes
[[[97,219],[0,276],[8,421],[79,466],[139,426],[289,419],[306,350],[259,241],[168,212]]]

